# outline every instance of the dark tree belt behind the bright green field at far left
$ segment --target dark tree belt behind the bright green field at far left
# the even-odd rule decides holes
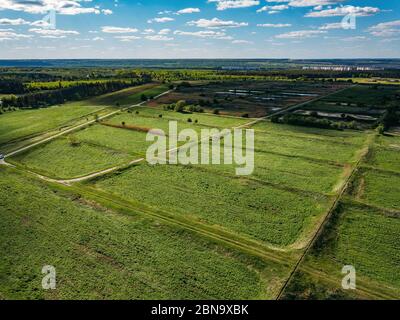
[[[125,81],[80,83],[69,88],[5,97],[2,99],[2,108],[9,109],[10,107],[14,107],[26,109],[46,107],[118,91],[131,85],[131,83]]]

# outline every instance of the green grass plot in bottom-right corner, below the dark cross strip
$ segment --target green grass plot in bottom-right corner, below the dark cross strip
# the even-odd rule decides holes
[[[357,272],[355,295],[364,298],[400,298],[400,217],[371,207],[341,204],[323,236],[307,256],[301,269],[314,281],[330,282],[334,290],[319,290],[300,274],[285,294],[286,298],[335,298],[341,290],[344,265]],[[362,230],[362,231],[361,231]],[[307,281],[307,282],[304,282]],[[330,296],[330,293],[334,293]]]

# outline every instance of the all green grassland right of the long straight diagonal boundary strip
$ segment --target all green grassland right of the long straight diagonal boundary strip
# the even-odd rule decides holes
[[[284,299],[399,299],[400,202],[396,138],[377,136],[322,235],[284,292]],[[397,159],[397,161],[396,161]],[[374,166],[374,167],[371,167]],[[357,290],[341,287],[344,265]]]

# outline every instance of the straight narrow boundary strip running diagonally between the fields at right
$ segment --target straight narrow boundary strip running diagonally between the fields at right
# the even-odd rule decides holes
[[[359,168],[359,166],[361,165],[362,161],[364,160],[365,155],[368,153],[368,150],[369,150],[369,148],[370,148],[370,146],[372,144],[372,141],[373,141],[374,137],[375,137],[375,134],[367,135],[367,139],[365,141],[365,145],[363,146],[362,149],[360,149],[360,153],[361,154],[359,156],[359,159],[357,160],[356,164],[352,167],[352,170],[351,170],[351,173],[349,174],[349,176],[343,182],[343,185],[340,188],[340,191],[338,192],[338,194],[336,195],[335,200],[332,203],[331,207],[329,208],[327,214],[325,215],[325,218],[322,220],[322,222],[319,225],[317,231],[315,232],[315,234],[313,235],[313,237],[309,241],[309,243],[306,246],[304,252],[301,254],[300,259],[295,264],[292,272],[290,273],[289,278],[285,281],[283,287],[279,291],[279,294],[277,295],[276,300],[281,300],[283,293],[285,292],[286,288],[288,287],[288,285],[289,285],[290,281],[292,280],[293,276],[299,270],[300,265],[304,261],[306,255],[310,252],[310,250],[312,249],[313,245],[315,244],[315,241],[320,237],[320,235],[324,231],[324,228],[325,228],[326,224],[328,223],[329,219],[331,218],[333,212],[337,208],[337,205],[339,204],[339,202],[342,199],[342,197],[345,195],[345,192],[347,190],[348,185],[350,184],[350,182],[352,181],[353,177],[357,173],[357,169]],[[370,141],[370,140],[372,140],[372,141]]]

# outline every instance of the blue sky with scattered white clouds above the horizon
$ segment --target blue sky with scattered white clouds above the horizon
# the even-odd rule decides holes
[[[400,1],[0,0],[0,48],[1,59],[400,58]]]

